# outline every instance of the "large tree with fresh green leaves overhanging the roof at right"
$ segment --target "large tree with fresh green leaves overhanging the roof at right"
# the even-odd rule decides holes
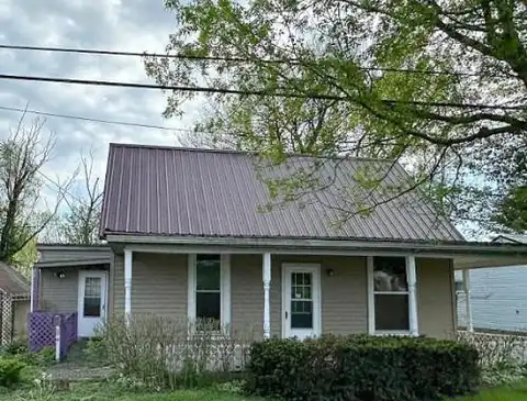
[[[197,124],[198,132],[232,132],[237,146],[278,160],[290,149],[399,160],[413,180],[384,201],[419,187],[458,219],[495,222],[491,216],[500,213],[501,197],[525,185],[525,169],[500,178],[508,161],[498,152],[490,159],[472,154],[503,146],[513,160],[525,155],[525,146],[515,146],[525,144],[527,132],[522,1],[167,0],[166,5],[178,21],[167,54],[179,57],[146,57],[146,71],[161,85],[216,89],[210,94],[215,111]],[[169,92],[165,115],[181,112],[181,103],[197,93]],[[317,110],[325,110],[323,119]],[[292,116],[299,114],[310,118],[295,125]],[[283,135],[281,125],[290,122],[291,135]],[[357,180],[372,189],[385,185],[384,175],[363,171]],[[298,182],[305,186],[292,177],[282,190],[295,192]],[[363,202],[350,199],[349,211],[365,211]],[[471,203],[492,208],[474,215]]]

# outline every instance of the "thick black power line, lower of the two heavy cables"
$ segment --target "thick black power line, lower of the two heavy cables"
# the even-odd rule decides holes
[[[10,80],[27,80],[40,82],[56,82],[70,85],[87,85],[87,86],[103,86],[103,87],[120,87],[120,88],[135,88],[135,89],[160,89],[183,92],[201,92],[201,93],[223,93],[223,94],[239,94],[239,96],[269,96],[278,98],[295,98],[295,99],[321,99],[321,100],[336,100],[336,101],[352,101],[347,97],[339,97],[335,94],[324,93],[295,93],[288,91],[267,91],[267,90],[239,90],[226,88],[212,87],[192,87],[192,86],[173,86],[173,85],[157,85],[157,83],[136,83],[136,82],[120,82],[108,80],[89,80],[89,79],[74,79],[74,78],[53,78],[40,76],[25,75],[7,75],[0,74],[0,79]],[[410,104],[423,107],[438,107],[438,108],[455,108],[455,109],[495,109],[495,110],[527,110],[527,107],[520,105],[494,105],[494,104],[478,104],[478,103],[450,103],[450,102],[422,102],[413,100],[381,100],[386,105]]]

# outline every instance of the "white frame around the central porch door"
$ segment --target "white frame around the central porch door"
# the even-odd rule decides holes
[[[290,277],[291,271],[311,272],[313,274],[313,332],[318,336],[322,334],[322,280],[321,265],[310,263],[284,263],[282,264],[282,338],[290,336],[290,328],[285,320],[285,313],[291,318],[291,302],[288,301],[288,291],[291,291]],[[289,283],[289,285],[288,285]],[[288,288],[289,287],[289,288]],[[291,296],[290,296],[291,298]]]

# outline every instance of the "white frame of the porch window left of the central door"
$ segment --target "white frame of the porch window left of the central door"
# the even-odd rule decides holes
[[[200,254],[201,255],[201,254]],[[217,255],[217,254],[216,254]],[[198,254],[189,254],[188,258],[188,319],[195,322],[195,294],[198,290],[197,282],[197,260]],[[221,326],[231,325],[231,255],[220,254],[220,318]]]

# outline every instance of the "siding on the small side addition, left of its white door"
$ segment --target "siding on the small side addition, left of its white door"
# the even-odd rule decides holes
[[[64,278],[56,275],[65,272]],[[79,274],[76,269],[41,270],[41,309],[47,312],[77,312]]]

